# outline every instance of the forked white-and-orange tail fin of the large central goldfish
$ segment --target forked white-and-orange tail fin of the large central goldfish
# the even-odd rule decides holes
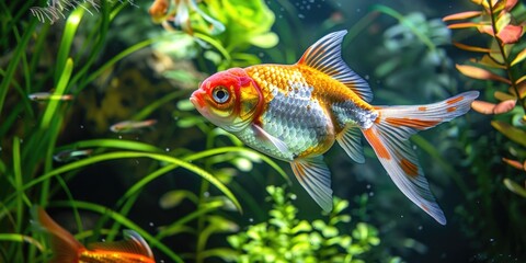
[[[408,139],[465,114],[477,96],[479,92],[471,91],[427,105],[378,107],[375,124],[362,130],[400,191],[442,225],[446,225],[446,218]]]

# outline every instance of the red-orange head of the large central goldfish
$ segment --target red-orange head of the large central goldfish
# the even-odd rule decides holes
[[[264,103],[258,83],[240,68],[208,77],[190,101],[203,116],[228,132],[247,128]]]

